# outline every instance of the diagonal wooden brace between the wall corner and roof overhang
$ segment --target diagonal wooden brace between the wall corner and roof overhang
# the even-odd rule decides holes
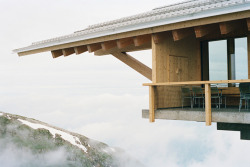
[[[111,53],[114,57],[127,64],[129,67],[133,68],[135,71],[139,72],[149,80],[152,80],[152,69],[144,65],[140,61],[136,60],[127,53]]]

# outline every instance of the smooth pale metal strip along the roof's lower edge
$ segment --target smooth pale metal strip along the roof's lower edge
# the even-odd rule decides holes
[[[98,38],[98,37],[104,37],[108,35],[131,32],[135,30],[147,29],[147,28],[158,27],[162,25],[168,25],[168,24],[173,24],[173,23],[178,23],[178,22],[183,22],[183,21],[190,21],[190,20],[195,20],[195,19],[224,15],[224,14],[229,14],[229,13],[242,12],[242,11],[247,11],[247,10],[250,10],[250,3],[244,3],[244,4],[237,5],[237,6],[230,6],[227,8],[212,9],[212,10],[188,14],[184,16],[167,18],[164,20],[162,19],[162,20],[156,20],[152,22],[144,22],[144,23],[136,24],[132,26],[126,26],[126,27],[121,27],[117,29],[95,32],[92,34],[87,34],[87,35],[85,34],[82,36],[74,36],[71,38],[58,40],[58,41],[52,41],[52,42],[39,44],[39,45],[30,45],[28,47],[15,49],[13,50],[13,52],[14,53],[27,52],[31,50],[47,48],[51,46],[62,45],[62,44],[67,44],[67,43],[72,43],[72,42],[78,42],[78,41],[83,41],[83,40],[88,40],[88,39],[93,39],[93,38]]]

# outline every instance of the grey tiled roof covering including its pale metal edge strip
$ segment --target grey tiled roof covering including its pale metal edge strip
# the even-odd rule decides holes
[[[145,13],[90,25],[86,29],[69,35],[34,42],[32,45],[16,49],[14,52],[28,52],[108,35],[247,10],[250,10],[250,0],[189,0],[155,8]]]

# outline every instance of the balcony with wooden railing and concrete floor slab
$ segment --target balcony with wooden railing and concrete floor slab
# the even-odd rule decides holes
[[[237,83],[250,83],[250,79],[143,84],[149,86],[149,110],[143,110],[143,118],[149,118],[150,122],[155,119],[198,121],[206,122],[207,126],[212,122],[250,124],[245,100],[239,110],[239,87],[218,87],[220,99],[214,95],[213,85]],[[201,92],[196,94],[198,98],[183,101],[183,87],[191,91],[193,87],[200,87]],[[194,92],[191,94],[193,96]]]

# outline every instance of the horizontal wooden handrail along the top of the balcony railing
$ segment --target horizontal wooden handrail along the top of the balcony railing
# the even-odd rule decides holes
[[[180,85],[220,84],[220,83],[247,83],[247,82],[250,82],[250,79],[144,83],[143,86],[164,86],[164,85],[165,86],[180,86]]]

